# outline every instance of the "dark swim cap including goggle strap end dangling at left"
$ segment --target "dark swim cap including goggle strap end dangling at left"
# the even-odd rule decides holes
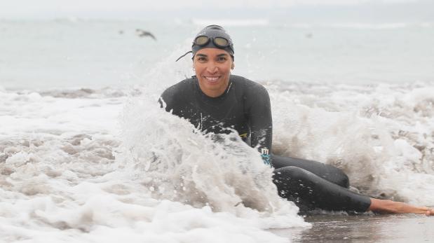
[[[198,37],[205,36],[208,37],[208,42],[205,41],[204,44],[197,44],[196,40]],[[219,40],[220,39],[220,40]],[[225,44],[222,44],[222,40],[225,39],[227,42]],[[222,50],[226,50],[232,57],[233,60],[233,43],[231,36],[226,33],[226,31],[223,29],[223,27],[219,25],[208,25],[207,27],[203,28],[201,32],[196,34],[196,36],[193,39],[193,46],[191,46],[191,50],[185,53],[184,55],[180,56],[175,62],[177,62],[179,59],[184,57],[185,55],[189,53],[193,53],[196,55],[198,50],[201,50],[203,48],[218,48]]]

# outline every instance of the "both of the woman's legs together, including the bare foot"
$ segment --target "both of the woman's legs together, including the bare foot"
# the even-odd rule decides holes
[[[271,155],[275,168],[273,182],[281,197],[291,200],[301,211],[325,209],[333,211],[374,211],[388,214],[426,214],[434,209],[405,202],[379,200],[348,190],[348,176],[336,167],[313,160]]]

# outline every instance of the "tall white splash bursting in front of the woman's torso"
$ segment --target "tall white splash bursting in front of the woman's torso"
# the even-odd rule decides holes
[[[239,204],[269,212],[278,207],[272,169],[238,134],[222,134],[217,142],[149,102],[127,106],[123,146],[133,158],[130,170],[154,195],[215,211]]]

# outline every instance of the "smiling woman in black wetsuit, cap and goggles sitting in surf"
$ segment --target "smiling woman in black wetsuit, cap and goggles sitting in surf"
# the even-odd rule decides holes
[[[305,210],[434,215],[434,209],[427,207],[354,193],[348,190],[348,176],[331,165],[272,155],[268,92],[258,83],[231,75],[234,49],[229,34],[222,27],[210,25],[196,35],[191,49],[188,53],[193,54],[196,76],[165,90],[159,102],[166,111],[186,118],[203,132],[236,130],[250,146],[258,148],[264,163],[274,167],[273,182],[281,197]]]

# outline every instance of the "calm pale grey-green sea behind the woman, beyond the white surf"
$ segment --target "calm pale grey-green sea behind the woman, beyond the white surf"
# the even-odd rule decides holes
[[[1,20],[0,78],[8,89],[104,88],[146,83],[154,64],[191,48],[205,25],[235,43],[234,74],[302,83],[432,82],[434,24],[258,20]],[[137,36],[143,29],[156,41]],[[189,57],[182,61],[188,62]],[[168,69],[179,68],[171,63]],[[175,82],[175,81],[172,81]]]

